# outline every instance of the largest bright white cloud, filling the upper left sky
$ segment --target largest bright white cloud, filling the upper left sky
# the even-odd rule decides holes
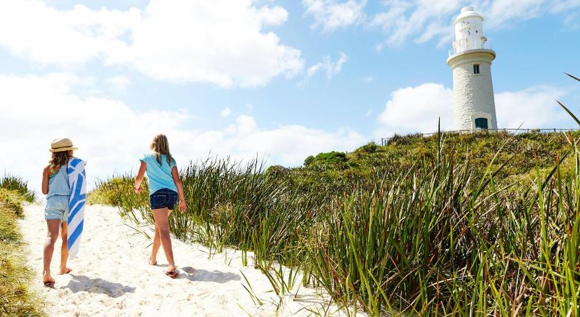
[[[57,10],[43,1],[0,3],[0,45],[42,65],[93,59],[154,79],[259,86],[302,70],[301,52],[265,26],[288,12],[257,0],[151,0],[144,10]]]

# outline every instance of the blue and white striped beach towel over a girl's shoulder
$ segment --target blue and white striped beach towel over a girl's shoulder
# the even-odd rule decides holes
[[[86,203],[86,162],[72,158],[68,161],[68,257],[75,258],[79,252],[84,225],[84,207]]]

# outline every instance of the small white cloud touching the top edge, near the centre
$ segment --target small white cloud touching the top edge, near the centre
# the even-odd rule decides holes
[[[325,31],[334,31],[363,21],[363,8],[367,0],[302,0],[306,7],[306,15],[313,17],[312,28],[322,26]]]

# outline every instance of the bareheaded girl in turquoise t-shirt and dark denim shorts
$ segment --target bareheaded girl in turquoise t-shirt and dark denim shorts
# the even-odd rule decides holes
[[[135,192],[141,193],[141,183],[145,172],[147,172],[151,210],[153,218],[155,218],[155,238],[153,238],[153,250],[149,264],[157,264],[157,251],[163,245],[163,251],[169,265],[165,274],[171,278],[176,278],[178,273],[173,260],[168,217],[177,203],[177,196],[180,198],[180,212],[185,212],[186,205],[183,183],[177,172],[175,159],[169,152],[167,137],[164,134],[155,136],[151,143],[151,153],[145,154],[140,161],[141,166],[137,177],[135,177]]]

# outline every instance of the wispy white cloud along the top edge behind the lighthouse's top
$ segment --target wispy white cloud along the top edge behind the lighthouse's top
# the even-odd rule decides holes
[[[462,6],[474,6],[485,17],[487,30],[510,28],[516,22],[527,21],[545,14],[561,14],[566,21],[578,14],[578,0],[394,0],[383,1],[385,10],[369,21],[371,27],[381,28],[387,39],[378,48],[401,45],[412,38],[419,43],[438,39],[439,45],[450,43],[453,19]],[[568,22],[569,24],[569,22]]]

